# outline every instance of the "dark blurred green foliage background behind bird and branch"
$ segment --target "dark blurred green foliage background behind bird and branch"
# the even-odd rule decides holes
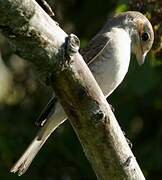
[[[132,56],[129,72],[108,98],[132,151],[149,180],[162,179],[162,3],[160,0],[48,0],[55,19],[76,34],[81,47],[114,13],[138,10],[155,30],[155,43],[145,64]],[[9,173],[38,128],[34,122],[48,102],[51,89],[40,84],[27,61],[14,55],[0,35],[0,179],[95,180],[91,166],[69,122],[49,138],[25,175]]]

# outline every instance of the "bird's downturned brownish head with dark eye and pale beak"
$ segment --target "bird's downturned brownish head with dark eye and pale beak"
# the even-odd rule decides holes
[[[142,65],[154,41],[153,28],[143,14],[136,11],[129,11],[126,14],[131,27],[129,33],[132,41],[132,53],[136,55],[138,64]]]

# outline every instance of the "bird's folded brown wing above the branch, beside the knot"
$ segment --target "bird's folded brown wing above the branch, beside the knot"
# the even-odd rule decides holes
[[[90,64],[94,59],[96,59],[105,47],[108,45],[110,38],[107,34],[98,34],[96,35],[85,47],[80,50],[83,59],[87,64]]]

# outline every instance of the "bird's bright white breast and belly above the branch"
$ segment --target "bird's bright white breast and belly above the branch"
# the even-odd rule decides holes
[[[124,79],[130,62],[130,38],[122,31],[110,40],[90,69],[105,96],[110,95]]]

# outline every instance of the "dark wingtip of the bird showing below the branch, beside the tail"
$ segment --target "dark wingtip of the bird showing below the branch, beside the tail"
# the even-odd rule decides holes
[[[35,121],[35,124],[37,126],[43,126],[44,123],[48,120],[48,118],[54,113],[56,103],[57,103],[56,97],[52,96],[52,98],[45,106],[38,119]]]

